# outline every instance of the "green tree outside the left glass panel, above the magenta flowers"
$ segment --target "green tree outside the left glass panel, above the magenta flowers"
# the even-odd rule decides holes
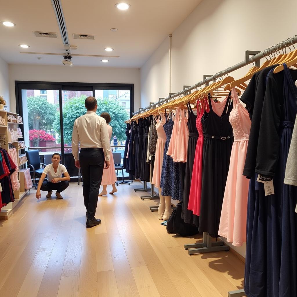
[[[57,106],[40,96],[28,97],[29,130],[52,131],[53,122],[59,114]]]

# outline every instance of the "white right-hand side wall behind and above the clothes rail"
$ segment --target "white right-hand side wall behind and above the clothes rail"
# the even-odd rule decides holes
[[[212,75],[243,61],[245,50],[262,51],[294,36],[296,21],[288,11],[297,10],[297,1],[281,3],[203,0],[172,32],[172,92],[201,81],[204,74]],[[168,96],[168,52],[166,39],[140,69],[141,107]],[[239,78],[250,67],[231,76]],[[245,255],[245,246],[234,249]]]

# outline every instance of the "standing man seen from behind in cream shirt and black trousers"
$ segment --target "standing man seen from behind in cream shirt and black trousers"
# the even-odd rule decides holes
[[[81,168],[83,175],[83,199],[87,209],[86,227],[90,228],[101,223],[100,219],[95,219],[95,213],[104,168],[104,155],[105,169],[109,168],[110,142],[106,121],[96,114],[96,98],[86,98],[85,107],[86,114],[74,122],[72,154],[75,166]],[[79,156],[78,143],[80,143]]]

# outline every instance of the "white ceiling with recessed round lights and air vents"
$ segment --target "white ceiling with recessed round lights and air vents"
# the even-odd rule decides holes
[[[127,11],[115,8],[118,0],[61,0],[73,54],[113,55],[120,58],[73,57],[74,66],[140,68],[161,42],[201,0],[127,0]],[[0,0],[0,56],[10,64],[61,65],[62,56],[21,54],[20,51],[65,53],[50,0]],[[119,29],[117,32],[110,28]],[[55,32],[58,39],[35,37],[32,31]],[[94,34],[95,40],[74,40],[72,34]],[[30,45],[29,49],[19,44]],[[115,50],[107,53],[103,48]],[[38,57],[46,59],[38,60]]]

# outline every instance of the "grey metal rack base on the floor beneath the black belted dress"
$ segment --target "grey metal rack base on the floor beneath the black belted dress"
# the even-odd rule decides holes
[[[190,256],[200,253],[229,251],[229,247],[223,241],[211,242],[211,236],[206,232],[203,232],[203,243],[185,244],[184,248],[188,250]]]

